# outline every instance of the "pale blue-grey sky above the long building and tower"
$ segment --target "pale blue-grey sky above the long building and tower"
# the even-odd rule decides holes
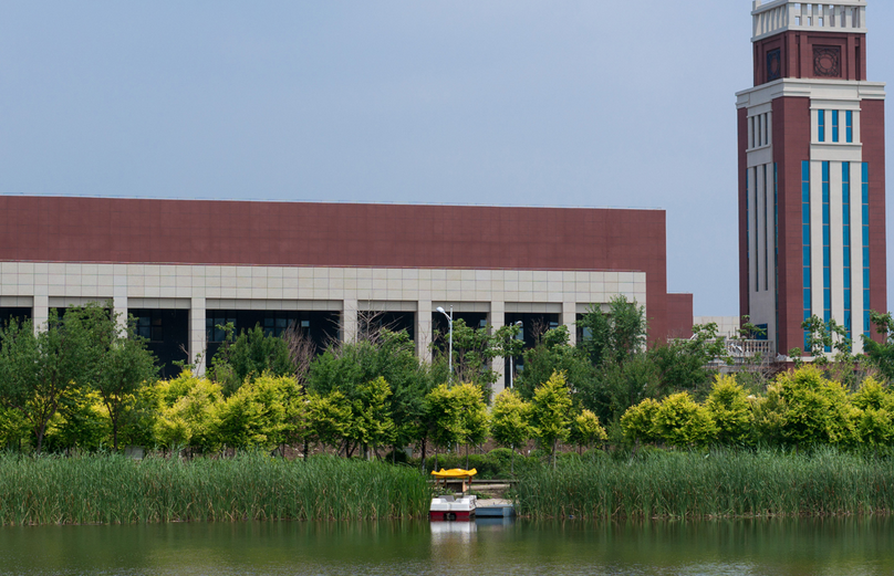
[[[736,315],[750,10],[0,0],[0,193],[661,208],[668,291]],[[894,82],[894,2],[867,25]]]

